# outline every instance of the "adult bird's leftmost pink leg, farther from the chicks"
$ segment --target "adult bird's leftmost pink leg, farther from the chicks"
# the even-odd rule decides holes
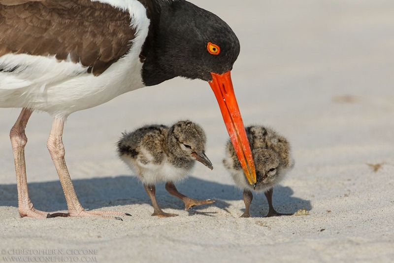
[[[48,215],[47,212],[36,210],[33,207],[29,198],[26,179],[25,146],[28,138],[25,134],[25,128],[32,113],[33,111],[30,109],[22,109],[21,114],[19,114],[18,119],[9,133],[15,160],[19,215],[21,217],[46,218]]]

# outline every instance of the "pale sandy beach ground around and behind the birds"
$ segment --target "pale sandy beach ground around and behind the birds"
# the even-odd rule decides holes
[[[8,137],[19,110],[0,109],[0,261],[56,253],[68,262],[393,262],[394,1],[193,2],[240,39],[232,77],[245,124],[272,126],[292,143],[296,166],[274,206],[310,215],[263,218],[260,194],[254,218],[238,218],[242,193],[221,163],[228,136],[216,100],[207,83],[179,78],[68,118],[66,160],[81,203],[132,214],[123,222],[19,218]],[[159,203],[179,216],[151,217],[115,143],[122,131],[183,118],[204,127],[214,170],[197,163],[178,189],[216,203],[184,211],[161,184]],[[46,149],[50,126],[34,113],[27,128],[29,191],[37,209],[66,210]]]

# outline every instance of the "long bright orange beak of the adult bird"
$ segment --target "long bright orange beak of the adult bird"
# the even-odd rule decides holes
[[[256,184],[255,164],[232,87],[230,71],[222,75],[216,73],[211,73],[211,75],[212,81],[208,83],[218,100],[232,146],[249,183]]]

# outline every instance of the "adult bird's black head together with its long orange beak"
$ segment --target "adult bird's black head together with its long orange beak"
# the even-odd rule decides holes
[[[218,16],[188,1],[145,2],[154,8],[147,13],[153,22],[142,47],[144,84],[156,85],[176,76],[208,81],[246,178],[250,184],[256,183],[230,75],[240,52],[238,38]]]

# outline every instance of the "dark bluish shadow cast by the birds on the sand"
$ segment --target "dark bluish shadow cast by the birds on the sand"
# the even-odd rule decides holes
[[[92,179],[75,179],[72,181],[82,206],[87,209],[102,207],[151,204],[142,184],[133,176],[117,176]],[[189,177],[185,182],[175,184],[178,190],[196,199],[213,199],[214,206],[225,209],[230,206],[229,200],[242,200],[242,191],[232,185],[224,185]],[[203,189],[203,190],[201,190]],[[290,187],[276,186],[273,194],[273,204],[278,212],[294,213],[298,209],[310,210],[310,200],[293,197]],[[30,198],[36,209],[43,211],[67,210],[66,199],[59,181],[29,184]],[[263,217],[268,212],[268,203],[263,193],[254,193],[251,214]],[[18,206],[16,185],[0,185],[0,206]],[[160,206],[165,208],[183,209],[181,200],[171,196],[164,184],[156,185],[156,196]],[[205,214],[192,208],[190,214]],[[125,211],[132,212],[132,211]],[[241,211],[240,211],[241,214]],[[209,216],[209,214],[206,214]]]

